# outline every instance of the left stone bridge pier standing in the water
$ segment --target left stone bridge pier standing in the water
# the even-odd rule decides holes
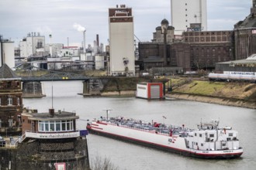
[[[40,81],[24,81],[22,83],[22,97],[46,97],[42,92],[42,83]]]

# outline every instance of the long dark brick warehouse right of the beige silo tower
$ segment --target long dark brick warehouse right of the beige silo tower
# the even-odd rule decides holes
[[[164,66],[163,42],[140,42],[141,68],[182,67],[183,71],[212,70],[215,63],[234,59],[234,32],[183,32],[182,40],[167,45],[168,65]]]

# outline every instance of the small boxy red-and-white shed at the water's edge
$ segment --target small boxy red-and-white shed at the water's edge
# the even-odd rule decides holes
[[[137,83],[136,97],[144,99],[162,99],[163,83]]]

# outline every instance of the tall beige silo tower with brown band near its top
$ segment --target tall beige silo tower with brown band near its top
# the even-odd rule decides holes
[[[134,31],[132,8],[109,8],[110,75],[134,75]]]

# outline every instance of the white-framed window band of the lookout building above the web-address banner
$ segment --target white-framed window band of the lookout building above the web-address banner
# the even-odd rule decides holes
[[[74,131],[73,120],[39,121],[39,131]]]

